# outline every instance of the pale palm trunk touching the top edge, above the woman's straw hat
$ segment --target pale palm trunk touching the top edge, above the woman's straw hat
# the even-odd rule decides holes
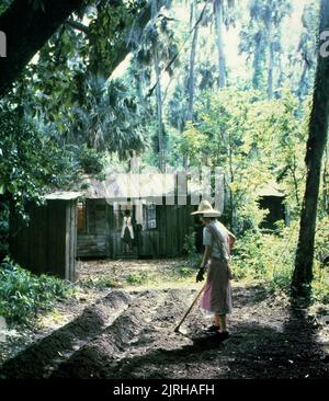
[[[218,88],[226,87],[226,59],[223,41],[223,0],[214,0],[216,46],[218,51]]]

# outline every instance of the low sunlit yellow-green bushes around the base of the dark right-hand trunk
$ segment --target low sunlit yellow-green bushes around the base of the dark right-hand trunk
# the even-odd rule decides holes
[[[328,216],[318,220],[316,237],[316,257],[313,282],[313,302],[328,303],[329,272],[321,265],[321,257],[328,252]],[[295,251],[298,237],[298,222],[283,228],[279,225],[276,234],[261,231],[247,231],[238,238],[234,248],[231,265],[237,279],[260,282],[269,293],[291,289]]]

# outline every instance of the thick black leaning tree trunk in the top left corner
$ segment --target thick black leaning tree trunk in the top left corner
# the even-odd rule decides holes
[[[7,37],[7,57],[0,57],[0,98],[10,90],[32,57],[59,25],[83,3],[82,0],[14,0],[0,15],[0,31]]]

